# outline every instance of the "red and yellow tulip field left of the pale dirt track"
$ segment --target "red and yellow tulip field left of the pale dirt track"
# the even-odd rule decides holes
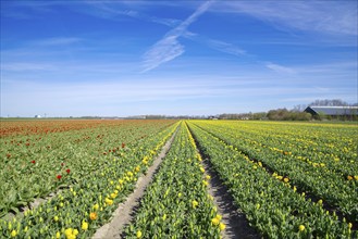
[[[1,123],[2,131],[14,133],[1,137],[1,215],[18,214],[18,206],[57,193],[23,215],[1,219],[0,238],[90,237],[133,191],[178,123],[17,124],[23,134],[13,130],[16,123]]]

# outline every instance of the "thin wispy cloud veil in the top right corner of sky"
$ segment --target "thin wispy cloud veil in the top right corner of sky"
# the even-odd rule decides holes
[[[244,13],[276,26],[357,36],[357,1],[224,1],[213,11]]]

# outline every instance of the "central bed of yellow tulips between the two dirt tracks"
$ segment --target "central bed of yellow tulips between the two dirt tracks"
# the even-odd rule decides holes
[[[210,176],[186,124],[148,186],[126,238],[220,238],[225,228],[208,193]]]

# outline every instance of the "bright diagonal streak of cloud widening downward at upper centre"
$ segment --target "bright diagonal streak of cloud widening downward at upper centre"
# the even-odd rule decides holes
[[[187,27],[205,13],[211,3],[212,1],[207,1],[201,4],[189,17],[170,30],[144,54],[144,72],[153,70],[184,53],[184,46],[177,41],[177,38],[185,34]]]

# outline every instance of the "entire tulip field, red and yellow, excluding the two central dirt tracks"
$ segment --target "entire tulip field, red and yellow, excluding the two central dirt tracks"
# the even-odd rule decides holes
[[[171,138],[122,237],[221,238],[230,225],[209,192],[205,165],[260,237],[358,237],[355,124],[0,123],[0,238],[92,237]]]

